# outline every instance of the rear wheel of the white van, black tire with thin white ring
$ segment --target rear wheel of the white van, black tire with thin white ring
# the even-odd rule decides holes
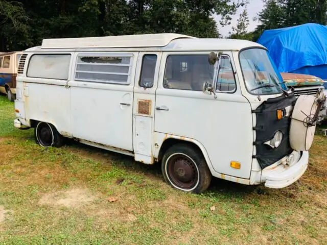
[[[61,147],[63,145],[62,135],[48,122],[38,122],[34,128],[34,137],[36,143],[43,147]]]

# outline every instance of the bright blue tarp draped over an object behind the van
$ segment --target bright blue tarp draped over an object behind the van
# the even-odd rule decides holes
[[[327,79],[327,27],[321,24],[302,24],[265,31],[258,43],[267,47],[280,72],[315,75]],[[312,69],[319,66],[319,69]],[[305,68],[303,68],[305,67]],[[295,72],[296,71],[296,72]],[[325,74],[325,75],[324,75]],[[323,78],[326,77],[326,78]]]

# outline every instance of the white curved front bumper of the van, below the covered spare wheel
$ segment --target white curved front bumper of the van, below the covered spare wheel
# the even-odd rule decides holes
[[[299,160],[290,166],[281,163],[263,169],[261,181],[268,188],[284,188],[297,181],[305,173],[308,163],[309,153],[301,152]]]

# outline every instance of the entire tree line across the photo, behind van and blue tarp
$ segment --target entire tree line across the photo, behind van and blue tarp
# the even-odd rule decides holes
[[[243,8],[230,38],[256,41],[267,29],[314,22],[327,24],[326,0],[263,0],[259,25],[248,32],[249,0],[0,0],[0,51],[40,45],[44,38],[180,33],[218,38],[217,22],[230,24]],[[252,1],[252,0],[251,0]]]

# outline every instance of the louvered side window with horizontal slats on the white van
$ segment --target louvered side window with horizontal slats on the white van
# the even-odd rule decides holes
[[[75,80],[129,84],[132,57],[78,56]]]

